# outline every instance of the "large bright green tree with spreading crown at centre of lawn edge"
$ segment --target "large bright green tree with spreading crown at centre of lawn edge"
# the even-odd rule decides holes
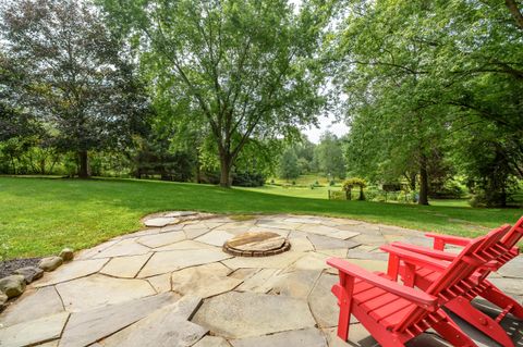
[[[209,128],[220,185],[252,139],[315,122],[325,102],[318,52],[330,1],[104,0],[108,17],[141,50],[155,95]]]

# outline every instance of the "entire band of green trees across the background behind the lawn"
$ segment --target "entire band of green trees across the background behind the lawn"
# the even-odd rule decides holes
[[[503,207],[523,178],[521,18],[521,1],[3,1],[0,173],[350,174]],[[304,139],[327,111],[349,134]]]

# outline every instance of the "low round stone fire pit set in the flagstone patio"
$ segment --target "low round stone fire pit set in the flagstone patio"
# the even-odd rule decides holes
[[[291,248],[289,240],[276,233],[244,233],[223,244],[223,251],[236,257],[268,257]]]

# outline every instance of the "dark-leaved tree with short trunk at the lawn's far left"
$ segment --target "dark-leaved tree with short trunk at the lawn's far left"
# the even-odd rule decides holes
[[[147,109],[123,41],[88,1],[21,0],[1,11],[5,59],[21,76],[11,102],[46,122],[87,177],[88,152],[124,146]]]

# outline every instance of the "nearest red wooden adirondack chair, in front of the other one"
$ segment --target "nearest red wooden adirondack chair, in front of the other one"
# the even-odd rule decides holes
[[[498,228],[472,240],[424,292],[401,285],[384,273],[368,272],[342,259],[329,259],[327,263],[338,269],[340,276],[340,282],[332,286],[340,306],[338,336],[348,339],[353,314],[384,347],[404,346],[429,327],[453,346],[476,346],[441,307],[475,288],[473,274],[494,259],[491,248],[507,231]],[[408,250],[402,252],[411,255],[402,258],[410,267],[422,262],[424,267],[441,265],[439,260]]]

